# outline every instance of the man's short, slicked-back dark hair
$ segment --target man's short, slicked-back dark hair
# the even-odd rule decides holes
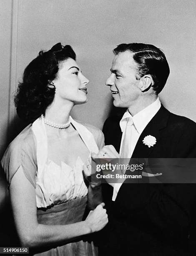
[[[166,56],[152,44],[119,44],[114,50],[115,55],[124,52],[133,52],[133,59],[136,61],[138,75],[137,79],[143,77],[145,74],[151,74],[154,84],[153,90],[156,94],[163,90],[169,76],[169,65]]]

